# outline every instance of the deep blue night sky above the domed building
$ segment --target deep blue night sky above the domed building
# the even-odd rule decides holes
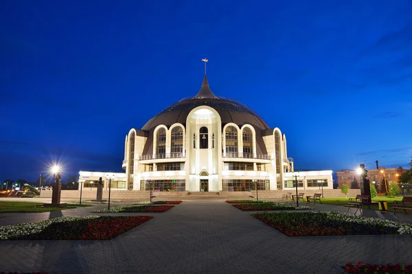
[[[0,180],[122,172],[124,138],[211,90],[297,170],[408,167],[412,1],[2,1]]]

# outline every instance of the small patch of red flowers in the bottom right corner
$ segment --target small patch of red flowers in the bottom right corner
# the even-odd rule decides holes
[[[346,273],[365,273],[365,274],[386,274],[386,273],[395,273],[395,274],[412,274],[412,265],[411,264],[346,264],[345,265]]]

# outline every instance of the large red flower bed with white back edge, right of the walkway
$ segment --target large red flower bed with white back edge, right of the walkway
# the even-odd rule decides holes
[[[412,234],[412,225],[340,212],[260,212],[253,217],[286,236]]]

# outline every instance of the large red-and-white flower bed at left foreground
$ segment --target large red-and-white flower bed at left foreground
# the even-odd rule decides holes
[[[0,240],[110,240],[153,216],[66,216],[0,227]]]

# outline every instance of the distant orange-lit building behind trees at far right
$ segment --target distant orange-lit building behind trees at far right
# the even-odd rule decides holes
[[[398,183],[398,177],[402,173],[406,172],[407,169],[403,169],[402,166],[398,169],[385,169],[385,167],[380,167],[379,169],[370,169],[367,171],[369,181],[376,186],[386,179],[387,184],[391,182]],[[361,182],[361,176],[355,171],[350,171],[349,169],[342,169],[341,171],[336,172],[338,176],[338,186],[342,187],[342,184],[347,184],[351,186],[351,183],[356,180],[356,182]]]

